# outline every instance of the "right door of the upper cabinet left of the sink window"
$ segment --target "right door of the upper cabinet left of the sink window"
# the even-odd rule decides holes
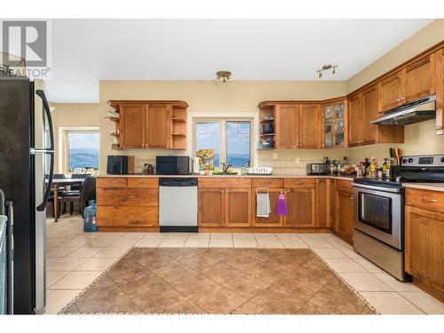
[[[170,105],[147,104],[145,122],[145,147],[170,147]]]

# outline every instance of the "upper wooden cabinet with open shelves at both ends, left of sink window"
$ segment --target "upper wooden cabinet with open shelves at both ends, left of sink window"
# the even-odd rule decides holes
[[[110,100],[120,117],[112,133],[119,143],[115,149],[186,149],[186,108],[184,101]]]

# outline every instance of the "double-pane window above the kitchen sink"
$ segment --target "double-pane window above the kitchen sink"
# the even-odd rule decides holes
[[[234,168],[250,166],[251,120],[210,119],[194,123],[194,151],[214,149],[214,167],[232,163]]]

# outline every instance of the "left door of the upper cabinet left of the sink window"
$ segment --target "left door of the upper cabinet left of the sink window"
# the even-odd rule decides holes
[[[120,107],[120,147],[145,147],[145,104],[123,104]]]

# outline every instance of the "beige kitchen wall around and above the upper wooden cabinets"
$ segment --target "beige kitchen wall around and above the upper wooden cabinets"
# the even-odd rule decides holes
[[[134,149],[116,151],[110,149],[114,123],[107,121],[107,100],[109,99],[182,99],[189,104],[188,111],[198,113],[257,113],[258,102],[267,99],[329,99],[344,96],[392,67],[423,52],[444,38],[444,20],[435,20],[416,35],[388,52],[380,59],[354,75],[347,82],[254,82],[233,81],[221,85],[213,81],[101,81],[99,104],[58,104],[56,126],[99,126],[100,127],[100,172],[106,171],[107,155],[136,155],[153,158],[155,155],[170,154],[164,150]],[[444,136],[434,134],[433,121],[408,125],[405,128],[405,143],[399,145],[405,154],[444,154]],[[56,130],[57,132],[57,130]],[[307,160],[330,158],[350,159],[364,156],[383,157],[388,155],[391,145],[375,145],[340,150],[276,151],[260,152],[261,165],[295,164],[299,158],[300,170]],[[295,165],[297,166],[297,165]]]

